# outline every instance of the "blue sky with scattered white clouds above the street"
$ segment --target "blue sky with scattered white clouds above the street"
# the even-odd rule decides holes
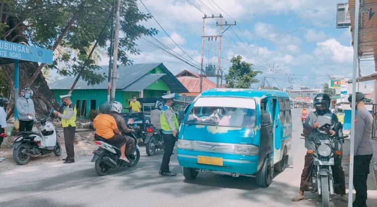
[[[200,72],[203,17],[224,17],[234,24],[222,36],[221,67],[228,73],[230,59],[243,60],[262,71],[278,88],[322,87],[328,76],[352,78],[353,48],[349,28],[336,28],[336,4],[328,0],[143,0],[150,14],[174,40],[174,43],[151,19],[143,24],[159,30],[156,39],[191,62],[184,63],[164,54],[144,41],[138,41],[140,55],[130,56],[134,63],[163,62],[176,74],[184,69]],[[148,13],[141,2],[140,11]],[[218,35],[220,19],[206,19],[205,35]],[[223,27],[225,30],[227,26]],[[204,65],[218,61],[219,39],[204,41]],[[179,47],[178,47],[178,46]],[[183,52],[184,51],[184,52]],[[189,57],[190,56],[190,57]],[[108,58],[101,63],[107,65]],[[193,67],[194,65],[195,67]],[[271,71],[271,66],[278,66]],[[374,71],[373,61],[360,64],[361,74]],[[225,82],[225,81],[224,81]],[[253,84],[257,88],[260,83]]]

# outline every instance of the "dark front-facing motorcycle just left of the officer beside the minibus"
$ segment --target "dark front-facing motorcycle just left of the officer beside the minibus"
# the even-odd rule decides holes
[[[146,132],[142,131],[141,134],[145,137],[145,150],[148,156],[154,155],[156,150],[163,150],[164,141],[160,130],[153,125],[147,125]]]

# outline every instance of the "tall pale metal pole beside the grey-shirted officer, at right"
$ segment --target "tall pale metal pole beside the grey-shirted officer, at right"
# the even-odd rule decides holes
[[[351,140],[350,140],[350,160],[349,160],[349,184],[348,184],[348,207],[352,207],[353,197],[353,156],[355,144],[355,113],[356,113],[356,72],[358,65],[358,43],[359,43],[359,0],[355,0],[355,25],[353,40],[353,74],[352,74],[352,110],[351,110]]]

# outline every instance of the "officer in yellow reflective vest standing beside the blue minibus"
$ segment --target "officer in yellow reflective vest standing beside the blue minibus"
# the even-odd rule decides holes
[[[165,107],[161,113],[160,122],[165,148],[159,174],[163,176],[176,175],[169,171],[170,156],[173,154],[176,136],[178,136],[178,119],[172,109],[174,97],[175,93],[162,96],[165,99]]]

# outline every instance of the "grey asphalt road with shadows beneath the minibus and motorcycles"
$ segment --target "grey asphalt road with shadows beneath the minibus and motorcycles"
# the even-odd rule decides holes
[[[91,157],[74,164],[61,161],[25,166],[0,173],[0,206],[322,206],[318,194],[292,202],[298,193],[304,166],[304,140],[299,110],[293,110],[293,144],[289,153],[293,165],[275,174],[272,184],[260,188],[255,178],[230,177],[210,172],[185,180],[176,154],[170,168],[176,177],[158,175],[163,151],[148,157],[142,147],[134,168],[113,170],[97,176]],[[1,164],[0,164],[1,167]],[[332,206],[347,206],[337,196]]]

